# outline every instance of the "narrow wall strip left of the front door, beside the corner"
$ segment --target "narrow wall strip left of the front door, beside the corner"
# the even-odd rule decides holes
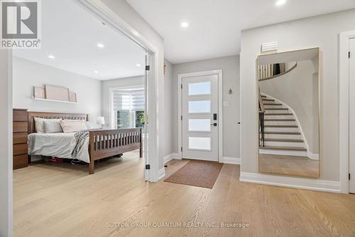
[[[173,65],[165,59],[165,75],[164,75],[164,137],[163,137],[163,157],[173,153]]]

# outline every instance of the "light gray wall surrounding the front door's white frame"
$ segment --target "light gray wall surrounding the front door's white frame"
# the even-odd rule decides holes
[[[229,107],[223,107],[223,156],[239,158],[239,56],[173,65],[173,152],[178,152],[178,74],[217,69],[223,70],[223,101],[229,101]]]

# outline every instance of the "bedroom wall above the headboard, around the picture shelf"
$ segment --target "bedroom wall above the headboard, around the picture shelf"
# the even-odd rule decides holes
[[[33,100],[33,86],[59,85],[77,93],[77,104]],[[101,81],[13,57],[13,107],[38,112],[72,112],[90,115],[96,125],[101,113]]]

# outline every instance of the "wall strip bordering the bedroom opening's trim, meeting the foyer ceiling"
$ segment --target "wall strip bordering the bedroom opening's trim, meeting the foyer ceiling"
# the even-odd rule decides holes
[[[151,130],[158,132],[158,139],[156,144],[150,140],[149,147],[158,147],[157,157],[159,159],[158,169],[163,168],[163,104],[164,104],[164,43],[163,38],[126,2],[126,0],[102,0],[102,3],[108,6],[111,11],[118,15],[121,19],[134,28],[139,35],[143,36],[149,43],[151,43],[156,49],[154,66],[157,70],[154,72],[155,76],[158,76],[158,80],[155,81],[155,86],[151,88],[151,93],[157,96],[158,101],[156,106],[152,108],[151,119],[154,119],[154,114],[157,115],[156,119],[158,124],[156,127],[151,125]],[[168,95],[170,96],[170,95]],[[151,163],[154,166],[153,163]],[[155,167],[151,168],[152,172],[155,172]],[[158,181],[158,179],[156,179]]]

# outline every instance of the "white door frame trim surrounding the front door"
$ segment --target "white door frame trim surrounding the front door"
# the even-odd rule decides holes
[[[222,69],[206,70],[195,73],[182,73],[178,75],[178,159],[182,159],[182,79],[203,75],[218,75],[218,162],[223,162],[223,74]]]

